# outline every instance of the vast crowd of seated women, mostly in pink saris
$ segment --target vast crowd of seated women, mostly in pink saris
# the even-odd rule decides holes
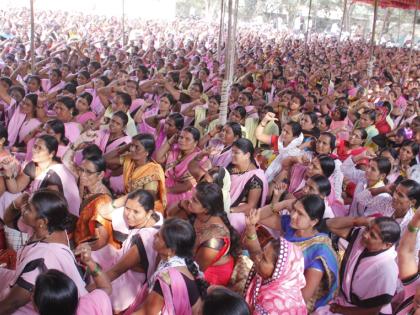
[[[420,312],[417,50],[0,16],[0,314]]]

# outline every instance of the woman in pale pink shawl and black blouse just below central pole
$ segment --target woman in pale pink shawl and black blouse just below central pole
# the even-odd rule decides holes
[[[268,183],[254,159],[251,141],[240,138],[233,143],[232,163],[227,170],[231,175],[231,212],[248,213],[265,204]]]

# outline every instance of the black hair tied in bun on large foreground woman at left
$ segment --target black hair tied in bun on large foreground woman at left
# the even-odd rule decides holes
[[[40,189],[32,194],[29,203],[34,206],[40,219],[47,220],[49,233],[66,229],[69,211],[62,193],[51,189]]]

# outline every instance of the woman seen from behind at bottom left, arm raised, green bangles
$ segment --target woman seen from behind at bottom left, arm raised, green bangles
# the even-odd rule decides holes
[[[87,273],[92,276],[97,290],[85,294],[79,299],[75,282],[64,272],[50,269],[36,278],[33,291],[33,303],[40,315],[112,315],[111,283],[108,277],[93,261],[90,249],[80,246],[75,255],[80,255],[80,261],[86,266]]]

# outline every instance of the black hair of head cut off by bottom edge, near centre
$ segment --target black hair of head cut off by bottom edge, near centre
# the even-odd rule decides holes
[[[227,289],[217,288],[206,296],[203,315],[251,315],[248,304],[242,296]]]

